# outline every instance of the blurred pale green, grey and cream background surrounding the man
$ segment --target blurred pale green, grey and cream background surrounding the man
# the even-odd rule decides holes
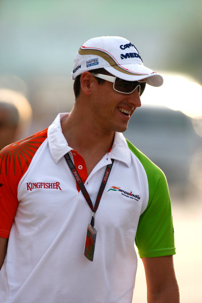
[[[147,85],[125,136],[167,176],[181,302],[201,303],[201,0],[1,0],[0,142],[44,129],[72,109],[75,54],[101,35],[128,38],[143,63],[164,76],[162,87]],[[138,303],[146,302],[141,263]]]

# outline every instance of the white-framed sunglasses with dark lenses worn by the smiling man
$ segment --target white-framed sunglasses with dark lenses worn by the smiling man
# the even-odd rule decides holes
[[[138,93],[141,96],[141,94],[144,91],[144,88],[146,86],[145,81],[126,81],[123,79],[120,79],[118,77],[113,77],[113,76],[108,76],[104,74],[95,74],[91,73],[94,77],[104,79],[110,82],[113,82],[113,88],[114,90],[121,92],[121,93],[131,93],[133,92],[136,88],[138,89]]]

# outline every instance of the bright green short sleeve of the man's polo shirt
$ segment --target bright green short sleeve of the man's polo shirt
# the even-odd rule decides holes
[[[144,167],[149,199],[139,218],[135,243],[140,258],[174,255],[174,230],[168,184],[164,173],[128,140],[128,146]]]

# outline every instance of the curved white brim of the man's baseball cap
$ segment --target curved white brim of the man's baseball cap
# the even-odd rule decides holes
[[[145,79],[146,83],[152,86],[161,86],[164,82],[163,77],[160,74],[141,64],[106,66],[104,69],[112,75],[127,81]]]

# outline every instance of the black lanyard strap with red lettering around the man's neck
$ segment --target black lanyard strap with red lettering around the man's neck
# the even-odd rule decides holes
[[[105,174],[104,174],[104,177],[103,177],[103,181],[102,181],[102,183],[101,183],[101,185],[99,187],[99,190],[98,190],[98,194],[97,194],[97,197],[96,197],[96,200],[95,200],[94,208],[93,208],[90,196],[89,196],[89,194],[88,194],[88,192],[87,192],[87,190],[86,190],[86,188],[85,188],[85,186],[84,186],[84,184],[83,184],[83,182],[82,182],[82,180],[81,180],[81,178],[80,178],[80,176],[79,176],[79,174],[78,174],[78,172],[77,172],[77,170],[76,170],[76,168],[74,166],[74,163],[72,162],[72,160],[71,160],[71,158],[70,158],[70,156],[69,156],[68,153],[65,155],[65,160],[67,161],[67,164],[69,165],[69,168],[71,169],[71,171],[72,171],[72,173],[73,173],[73,175],[74,175],[74,177],[76,179],[76,182],[78,183],[78,185],[79,185],[79,187],[80,187],[80,189],[81,189],[81,191],[82,191],[82,193],[83,193],[83,195],[84,195],[84,197],[86,199],[86,202],[87,202],[87,204],[89,205],[89,207],[90,207],[90,209],[92,211],[92,220],[91,220],[90,224],[93,227],[94,226],[94,214],[95,214],[96,210],[98,209],[100,199],[101,199],[101,197],[103,195],[103,191],[104,191],[105,186],[107,184],[108,177],[109,177],[110,172],[112,170],[114,159],[111,159],[112,163],[108,164],[108,166],[106,168],[106,171],[105,171]]]

